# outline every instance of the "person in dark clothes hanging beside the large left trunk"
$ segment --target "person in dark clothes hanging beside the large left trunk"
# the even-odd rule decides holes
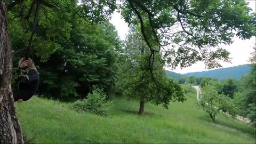
[[[39,85],[39,73],[30,58],[21,58],[18,69],[21,69],[21,73],[18,75],[18,90],[13,91],[13,99],[22,102],[35,95]]]

